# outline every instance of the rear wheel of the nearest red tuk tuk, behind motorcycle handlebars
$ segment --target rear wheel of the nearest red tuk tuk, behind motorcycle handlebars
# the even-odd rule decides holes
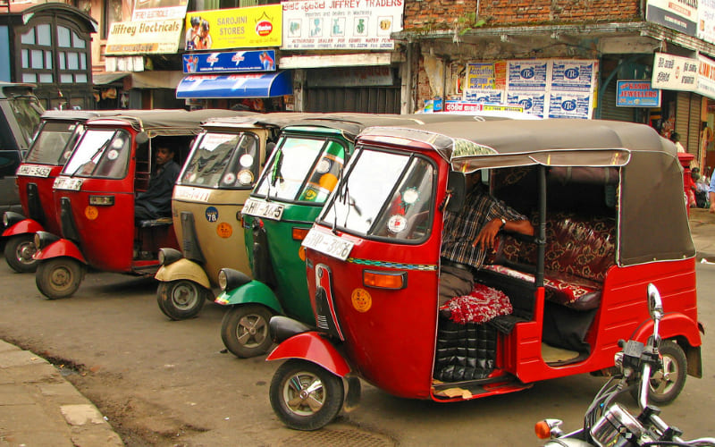
[[[660,356],[663,358],[663,369],[651,375],[651,384],[648,389],[648,401],[653,404],[667,405],[675,401],[677,395],[686,386],[687,358],[676,342],[664,340],[660,343]],[[638,400],[638,390],[633,392]]]

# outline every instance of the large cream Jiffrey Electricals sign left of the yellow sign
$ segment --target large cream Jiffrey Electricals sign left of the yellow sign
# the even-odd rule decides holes
[[[115,21],[109,30],[105,55],[164,55],[176,53],[181,20]]]

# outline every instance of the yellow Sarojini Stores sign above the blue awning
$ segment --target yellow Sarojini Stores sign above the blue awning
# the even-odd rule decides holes
[[[185,40],[189,51],[281,46],[281,5],[187,13]]]

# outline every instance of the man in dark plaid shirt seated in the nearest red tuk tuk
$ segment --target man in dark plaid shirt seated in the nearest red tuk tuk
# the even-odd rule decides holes
[[[442,230],[440,301],[467,295],[475,285],[474,270],[494,248],[497,233],[533,235],[534,226],[503,202],[493,198],[481,184],[478,173],[467,176],[467,197],[458,213],[445,212]],[[476,183],[476,184],[475,184]]]

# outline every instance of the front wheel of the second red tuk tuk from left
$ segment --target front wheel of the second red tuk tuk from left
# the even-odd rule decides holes
[[[71,257],[55,257],[38,264],[35,283],[49,299],[71,297],[84,279],[85,268]]]

